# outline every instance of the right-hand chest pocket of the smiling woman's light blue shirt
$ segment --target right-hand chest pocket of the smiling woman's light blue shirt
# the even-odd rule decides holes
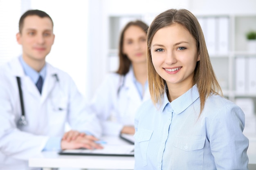
[[[176,137],[173,141],[173,157],[171,159],[173,169],[186,170],[190,167],[190,169],[201,170],[199,167],[202,168],[205,139],[206,137],[202,136]],[[178,163],[180,160],[182,163]]]

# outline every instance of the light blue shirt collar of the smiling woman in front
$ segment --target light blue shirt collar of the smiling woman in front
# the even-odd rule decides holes
[[[171,104],[171,108],[173,109],[174,113],[180,114],[186,108],[188,108],[196,99],[199,97],[198,87],[195,84],[192,88],[190,88],[186,93],[178,97],[177,99],[173,100],[171,103],[168,100],[167,94],[164,93],[163,96],[163,103],[160,107],[160,110],[164,111],[168,104]]]

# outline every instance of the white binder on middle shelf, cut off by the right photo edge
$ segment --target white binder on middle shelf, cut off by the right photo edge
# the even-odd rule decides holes
[[[249,57],[248,59],[248,92],[256,94],[256,58]]]

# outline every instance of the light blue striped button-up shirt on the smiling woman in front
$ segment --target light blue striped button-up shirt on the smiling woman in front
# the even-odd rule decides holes
[[[245,115],[210,95],[200,117],[197,86],[162,105],[151,101],[135,115],[135,170],[248,170]]]

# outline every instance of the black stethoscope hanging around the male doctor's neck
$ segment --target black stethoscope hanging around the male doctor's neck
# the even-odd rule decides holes
[[[59,82],[58,75],[53,74],[53,77],[55,77],[56,81]],[[22,95],[22,89],[20,85],[20,77],[17,78],[18,88],[19,88],[19,95],[20,95],[20,106],[21,106],[21,116],[20,119],[18,119],[17,125],[18,126],[26,126],[28,124],[26,117],[25,117],[25,109],[24,109],[24,100]]]

